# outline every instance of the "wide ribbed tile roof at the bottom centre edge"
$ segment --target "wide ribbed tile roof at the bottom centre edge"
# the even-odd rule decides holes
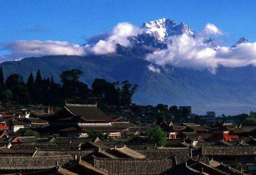
[[[94,158],[94,167],[111,175],[157,175],[172,168],[171,158]]]

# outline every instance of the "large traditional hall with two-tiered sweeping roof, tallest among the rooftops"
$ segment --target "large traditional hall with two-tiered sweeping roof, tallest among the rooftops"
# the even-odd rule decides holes
[[[80,128],[80,137],[87,137],[87,131],[95,129],[108,134],[109,137],[120,138],[122,131],[134,127],[129,122],[117,122],[121,119],[111,117],[102,112],[97,105],[82,105],[66,103],[65,107],[55,117],[57,124],[76,125]],[[50,124],[53,124],[51,122]]]

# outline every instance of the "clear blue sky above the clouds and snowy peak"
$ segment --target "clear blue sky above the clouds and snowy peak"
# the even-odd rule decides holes
[[[0,0],[0,42],[54,40],[82,44],[119,22],[171,18],[200,31],[206,23],[228,32],[223,45],[240,37],[255,42],[256,2],[249,0]]]

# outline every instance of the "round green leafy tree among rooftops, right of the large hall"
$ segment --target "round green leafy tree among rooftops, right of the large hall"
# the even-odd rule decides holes
[[[156,143],[158,146],[164,146],[166,144],[167,133],[158,125],[154,128],[147,128],[146,135],[148,136],[149,142]]]

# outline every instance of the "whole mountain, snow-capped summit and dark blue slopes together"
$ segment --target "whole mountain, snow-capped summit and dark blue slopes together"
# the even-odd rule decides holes
[[[20,61],[1,63],[5,78],[10,74],[20,74],[27,80],[32,72],[41,71],[42,77],[53,76],[59,82],[62,71],[76,68],[83,71],[80,81],[89,86],[95,78],[109,82],[129,80],[138,84],[134,102],[144,105],[165,103],[168,105],[191,105],[193,112],[205,114],[238,114],[256,111],[256,68],[254,66],[218,66],[215,74],[207,69],[175,67],[170,64],[160,66],[145,60],[145,57],[158,50],[167,49],[170,36],[187,33],[197,34],[183,22],[176,24],[171,19],[159,19],[142,25],[145,32],[128,37],[131,45],[116,44],[116,53],[104,55],[57,55],[30,57]],[[158,33],[160,32],[160,33]],[[239,39],[234,46],[247,43]],[[218,43],[214,38],[205,39],[204,44],[215,50]],[[152,66],[150,71],[148,66]]]

